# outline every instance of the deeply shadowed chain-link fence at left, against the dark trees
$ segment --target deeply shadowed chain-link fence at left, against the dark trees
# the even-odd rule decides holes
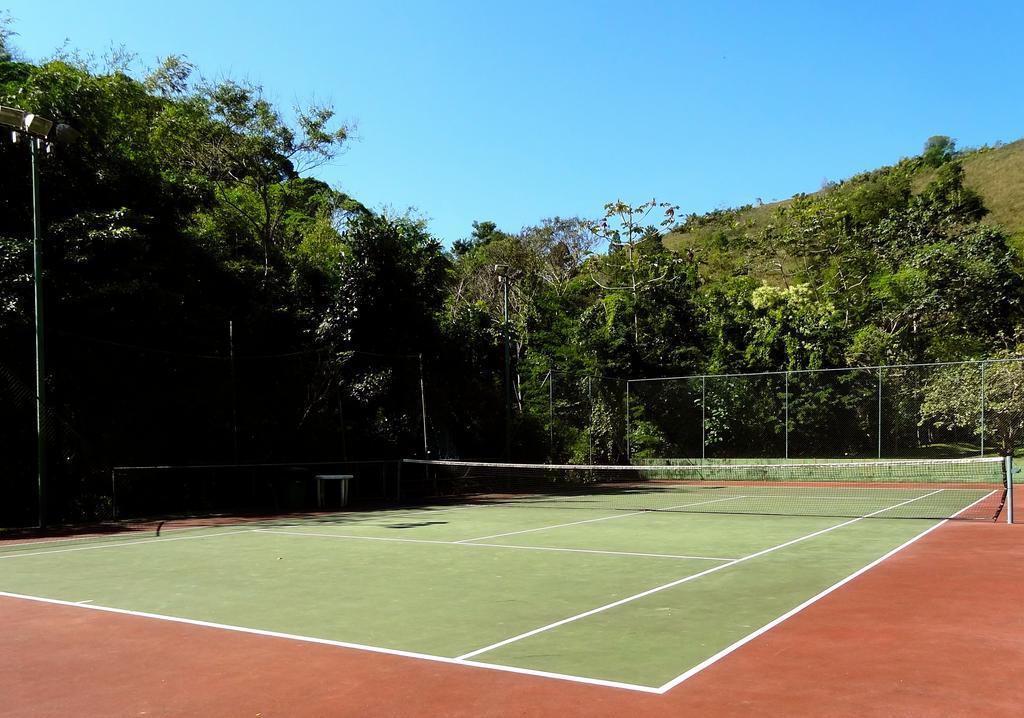
[[[31,335],[17,346],[31,348]],[[0,362],[0,526],[40,519],[31,352]],[[113,517],[116,466],[424,456],[418,355],[186,353],[53,333],[43,414],[47,522]]]

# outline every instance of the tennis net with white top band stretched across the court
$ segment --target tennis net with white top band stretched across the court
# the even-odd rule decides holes
[[[1012,506],[1001,457],[632,466],[402,462],[402,503],[994,521]],[[1009,493],[1009,496],[1008,496]]]

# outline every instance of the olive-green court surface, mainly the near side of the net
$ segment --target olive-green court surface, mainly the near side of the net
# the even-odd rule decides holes
[[[660,691],[936,526],[885,517],[926,495],[851,490],[853,517],[598,500],[168,524],[0,543],[0,591]]]

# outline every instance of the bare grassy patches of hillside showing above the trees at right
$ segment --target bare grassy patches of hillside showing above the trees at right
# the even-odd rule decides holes
[[[1024,256],[1024,139],[968,151],[958,159],[967,186],[981,195],[989,210],[985,221],[1010,235],[1013,246]],[[920,170],[912,184],[914,192],[924,188],[934,174],[930,168]],[[665,244],[676,251],[699,251],[712,267],[735,268],[738,262],[755,276],[768,273],[771,267],[759,267],[755,260],[744,259],[744,247],[762,235],[775,210],[790,202],[748,205],[691,217],[683,230],[666,237]]]

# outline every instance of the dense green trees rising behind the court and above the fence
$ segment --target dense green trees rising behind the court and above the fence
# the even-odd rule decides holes
[[[481,218],[445,248],[417,216],[315,178],[350,141],[331,108],[285,113],[181,57],[136,77],[116,57],[29,61],[11,41],[0,25],[0,104],[81,133],[41,169],[50,460],[66,497],[118,464],[502,456],[499,274],[523,461],[555,445],[565,460],[626,460],[627,378],[1019,353],[1019,257],[947,137],[756,225],[615,200],[523,228]],[[0,449],[16,521],[35,471],[24,143],[0,141]],[[670,235],[689,241],[669,249]],[[591,399],[586,451],[531,409],[556,376],[606,394]]]

